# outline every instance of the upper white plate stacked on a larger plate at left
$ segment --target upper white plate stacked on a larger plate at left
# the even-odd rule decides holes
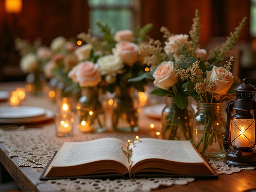
[[[45,109],[34,106],[8,106],[0,107],[0,118],[16,119],[45,115]]]

